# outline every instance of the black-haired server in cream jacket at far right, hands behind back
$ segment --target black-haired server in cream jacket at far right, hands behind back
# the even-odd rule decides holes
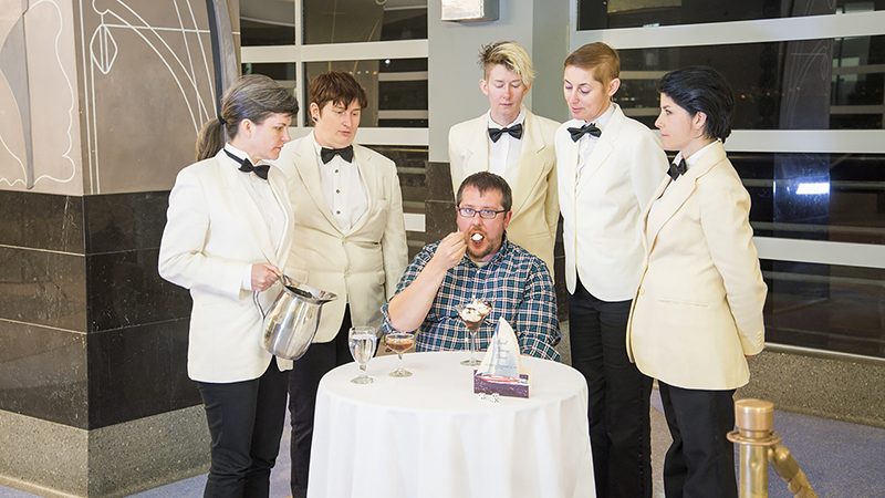
[[[636,366],[658,380],[673,445],[667,497],[737,497],[733,393],[762,351],[766,284],[750,196],[726,157],[735,100],[710,68],[658,84],[664,147],[678,151],[644,212],[645,264],[627,328]]]

